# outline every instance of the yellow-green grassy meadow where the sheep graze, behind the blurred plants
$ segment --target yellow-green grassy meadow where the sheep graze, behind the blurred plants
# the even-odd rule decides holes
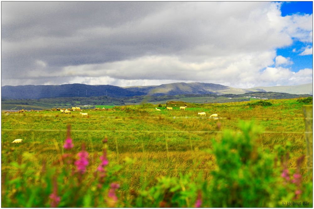
[[[43,164],[49,167],[61,163],[60,156],[68,153],[63,148],[63,144],[69,124],[74,144],[71,152],[80,152],[81,144],[85,144],[91,162],[87,166],[87,173],[90,176],[97,170],[97,162],[104,149],[103,139],[108,139],[107,156],[110,165],[117,166],[112,167],[111,175],[121,177],[117,180],[120,184],[117,193],[121,199],[120,203],[114,206],[145,207],[149,206],[147,201],[139,204],[140,195],[134,197],[132,192],[142,191],[139,194],[143,196],[145,193],[143,191],[149,193],[148,188],[158,185],[165,176],[179,180],[189,176],[202,182],[211,182],[215,178],[213,172],[217,170],[217,157],[219,157],[214,154],[217,150],[213,150],[213,142],[220,143],[226,130],[239,132],[239,123],[242,121],[260,127],[260,137],[257,138],[255,146],[261,150],[261,153],[268,150],[270,154],[275,154],[278,151],[277,147],[281,145],[290,155],[287,161],[288,168],[296,170],[299,166],[299,172],[305,174],[306,161],[298,164],[298,159],[306,155],[303,104],[297,102],[297,99],[279,99],[268,100],[272,105],[267,107],[247,105],[252,102],[254,101],[185,103],[186,110],[180,110],[181,103],[178,102],[171,104],[172,111],[167,110],[165,104],[110,106],[108,110],[83,110],[82,112],[88,113],[87,117],[82,117],[78,111],[73,111],[71,114],[50,110],[2,112],[1,171],[7,178],[12,176],[11,179],[14,179],[14,175],[16,176],[20,170],[12,166],[13,162],[23,164],[31,161],[27,164],[28,169],[35,171],[41,170]],[[156,107],[161,111],[156,111]],[[200,117],[198,112],[206,112],[206,117]],[[219,119],[214,120],[209,117],[214,113],[218,114]],[[11,142],[17,138],[23,139],[23,142],[12,144]],[[24,158],[23,153],[29,153],[32,157]],[[304,180],[309,179],[305,177]],[[184,187],[181,187],[180,189],[185,191]],[[2,196],[10,196],[10,192],[14,191],[12,185],[3,189],[8,193],[3,193]],[[161,202],[166,202],[163,200],[166,199],[167,194],[165,192]],[[165,206],[194,206],[189,198],[189,196],[183,198],[184,204]],[[198,197],[194,194],[193,198]],[[289,201],[293,201],[292,196]],[[152,202],[157,204],[158,201],[154,199]],[[206,200],[204,199],[203,202]],[[22,206],[22,203],[19,205],[14,201],[2,200],[2,203],[3,206]],[[64,204],[66,207],[71,206]],[[82,203],[82,206],[89,205]],[[158,203],[152,206],[163,205]],[[203,206],[215,205],[208,203]],[[273,206],[278,206],[277,202]]]

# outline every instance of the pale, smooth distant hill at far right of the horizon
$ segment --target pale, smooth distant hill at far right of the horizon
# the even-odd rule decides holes
[[[289,94],[311,94],[313,95],[313,83],[295,86],[258,86],[247,90],[251,91],[273,91]]]

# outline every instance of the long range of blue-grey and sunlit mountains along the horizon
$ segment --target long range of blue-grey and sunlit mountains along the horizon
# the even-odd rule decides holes
[[[233,88],[213,83],[170,83],[159,86],[129,86],[119,87],[112,85],[86,85],[86,84],[63,84],[63,85],[25,85],[25,86],[2,86],[2,99],[41,99],[57,97],[133,97],[143,95],[179,95],[179,94],[244,94],[247,92],[273,91],[289,94],[313,95],[313,84],[295,86],[268,86],[254,87],[249,89]]]

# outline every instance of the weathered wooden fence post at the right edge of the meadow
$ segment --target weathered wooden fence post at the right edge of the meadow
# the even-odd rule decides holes
[[[303,105],[305,138],[306,138],[306,166],[313,175],[313,105]]]

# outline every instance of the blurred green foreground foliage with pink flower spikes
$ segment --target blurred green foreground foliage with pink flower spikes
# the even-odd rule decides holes
[[[24,152],[16,162],[2,162],[12,168],[2,172],[2,207],[284,207],[290,201],[312,207],[312,177],[302,166],[305,156],[289,167],[289,142],[271,152],[259,146],[260,127],[252,122],[239,127],[241,132],[226,130],[221,139],[212,139],[208,154],[214,155],[216,168],[210,181],[191,171],[158,177],[155,184],[142,180],[137,191],[121,174],[133,160],[126,159],[123,167],[107,158],[107,140],[94,158],[84,144],[79,153],[69,146],[51,166]]]

